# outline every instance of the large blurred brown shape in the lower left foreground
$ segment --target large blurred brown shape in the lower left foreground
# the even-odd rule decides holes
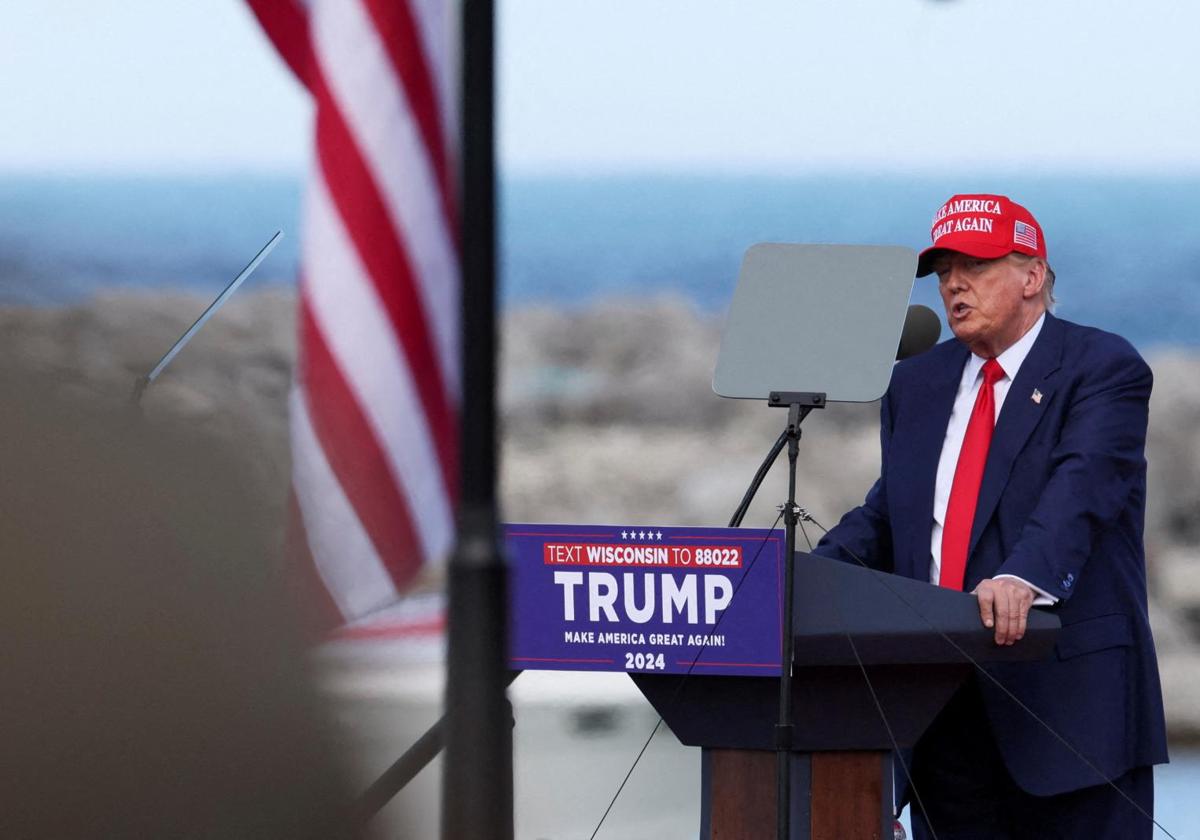
[[[242,464],[0,388],[0,835],[334,836],[348,798]]]

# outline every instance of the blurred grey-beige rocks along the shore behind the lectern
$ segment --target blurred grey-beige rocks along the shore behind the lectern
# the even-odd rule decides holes
[[[294,295],[241,294],[145,394],[151,421],[233,442],[282,521]],[[182,293],[106,293],[59,308],[0,308],[0,359],[61,390],[127,401],[203,311]],[[720,324],[683,300],[608,301],[503,319],[502,503],[509,521],[725,524],[784,414],[721,400],[709,380]],[[1147,562],[1169,724],[1200,742],[1200,353],[1151,354]],[[822,526],[878,468],[877,408],[805,421],[797,497]],[[775,467],[745,520],[769,526],[786,496]],[[816,539],[816,534],[812,534]]]

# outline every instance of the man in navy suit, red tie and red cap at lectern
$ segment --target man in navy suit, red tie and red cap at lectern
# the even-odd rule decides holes
[[[880,479],[817,551],[974,593],[996,644],[1019,643],[1031,606],[1063,629],[1050,660],[988,666],[995,682],[977,674],[923,736],[914,835],[1150,838],[1166,761],[1142,547],[1151,371],[1050,313],[1021,205],[955,196],[931,238],[917,276],[937,275],[954,340],[895,366]]]

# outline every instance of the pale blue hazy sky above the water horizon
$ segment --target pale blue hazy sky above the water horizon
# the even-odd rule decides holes
[[[1200,173],[1200,4],[500,0],[518,172]],[[299,172],[240,0],[0,2],[0,169]]]

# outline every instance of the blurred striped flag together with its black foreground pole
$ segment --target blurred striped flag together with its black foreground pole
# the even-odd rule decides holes
[[[493,6],[462,4],[460,133],[449,0],[247,2],[316,103],[292,395],[296,570],[317,578],[334,623],[362,624],[451,553],[442,832],[508,840]]]

